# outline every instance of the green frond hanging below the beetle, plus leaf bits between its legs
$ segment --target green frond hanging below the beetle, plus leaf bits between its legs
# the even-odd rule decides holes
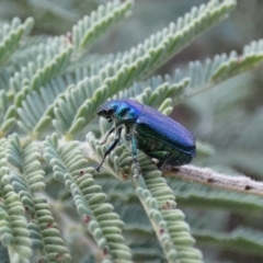
[[[95,147],[96,152],[102,152],[92,135],[89,135],[88,139]],[[119,176],[121,171],[122,176],[125,178],[127,176],[125,168],[128,168],[126,163],[130,161],[130,157],[127,150],[119,158],[117,153],[119,149],[111,155],[107,163],[113,171],[119,168],[115,174]],[[175,209],[174,196],[165,180],[161,178],[160,171],[152,171],[155,165],[149,158],[141,155],[139,161],[144,179],[133,180],[135,191],[147,211],[168,261],[187,262],[191,259],[193,262],[202,262],[199,252],[192,248],[194,240],[188,233],[188,226],[183,221],[184,215]],[[133,173],[133,171],[129,172]]]

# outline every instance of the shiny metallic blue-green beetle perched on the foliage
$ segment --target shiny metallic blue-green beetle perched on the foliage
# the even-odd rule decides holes
[[[195,138],[181,124],[171,117],[158,112],[156,108],[140,104],[130,99],[111,100],[102,104],[98,115],[114,122],[106,133],[108,136],[115,132],[114,140],[107,146],[103,159],[96,171],[99,172],[105,158],[116,147],[121,139],[122,129],[126,129],[125,138],[132,142],[133,161],[140,174],[137,160],[137,149],[147,156],[159,160],[157,167],[165,164],[183,165],[190,163],[195,157]]]

